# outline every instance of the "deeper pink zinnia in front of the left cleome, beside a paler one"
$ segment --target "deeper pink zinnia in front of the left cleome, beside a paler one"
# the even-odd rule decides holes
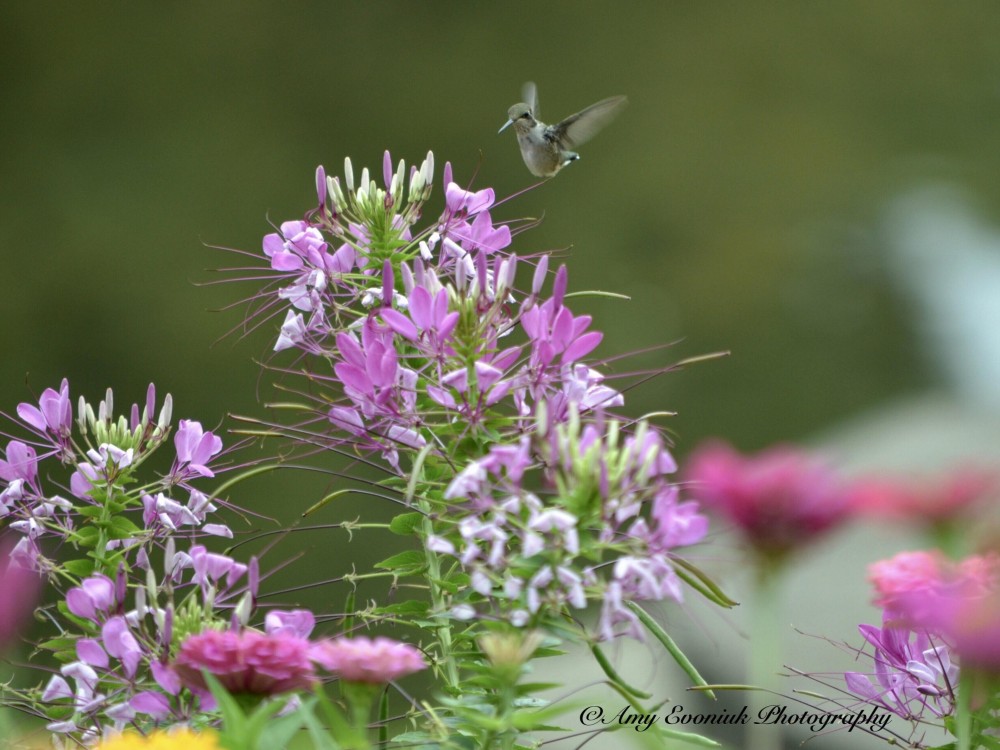
[[[199,691],[206,689],[202,670],[232,693],[309,690],[317,682],[309,648],[309,641],[288,634],[206,630],[184,640],[174,671]]]

